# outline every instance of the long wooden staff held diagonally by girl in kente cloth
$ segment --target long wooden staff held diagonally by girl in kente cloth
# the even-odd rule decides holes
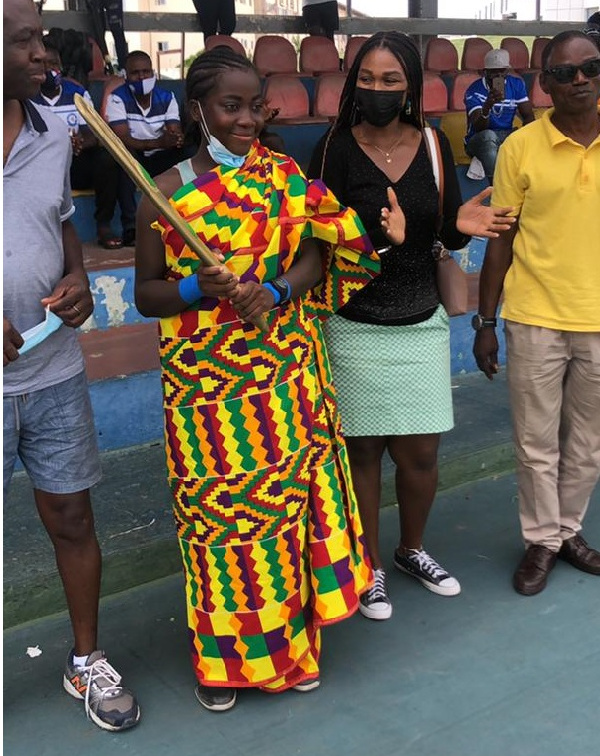
[[[131,177],[135,185],[148,197],[150,202],[166,218],[171,226],[181,236],[187,246],[195,252],[200,258],[203,265],[221,265],[214,253],[209,247],[198,238],[190,224],[182,218],[165,195],[156,186],[154,180],[147,171],[138,163],[123,142],[104,121],[103,118],[86,102],[80,94],[74,95],[75,107],[85,118],[87,125],[90,127],[97,139],[106,147],[114,159],[119,163],[124,171]],[[256,325],[263,333],[267,333],[269,326],[264,318],[260,315],[253,324]]]

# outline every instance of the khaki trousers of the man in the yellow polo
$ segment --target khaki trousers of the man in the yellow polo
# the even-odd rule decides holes
[[[523,539],[558,551],[600,477],[600,332],[506,321],[506,349]]]

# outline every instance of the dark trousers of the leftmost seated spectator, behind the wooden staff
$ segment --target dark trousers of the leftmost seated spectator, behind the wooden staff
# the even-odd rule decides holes
[[[96,226],[110,226],[117,204],[119,166],[103,147],[90,147],[73,156],[71,187],[94,190]]]

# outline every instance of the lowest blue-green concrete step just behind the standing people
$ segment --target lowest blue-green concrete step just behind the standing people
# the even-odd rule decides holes
[[[440,491],[513,467],[503,377],[490,385],[482,375],[458,376],[453,387],[456,427],[442,440]],[[93,501],[106,596],[178,572],[181,563],[162,444],[106,452],[103,467]],[[395,500],[393,466],[386,459],[382,505]],[[35,513],[31,485],[18,473],[4,507],[5,627],[64,607],[54,553]]]

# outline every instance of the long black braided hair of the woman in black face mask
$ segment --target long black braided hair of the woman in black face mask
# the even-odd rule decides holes
[[[377,32],[360,48],[348,71],[346,83],[340,98],[340,111],[333,125],[332,132],[349,129],[361,122],[360,111],[355,105],[354,94],[358,81],[358,72],[366,55],[373,50],[389,50],[400,63],[408,82],[408,96],[411,102],[410,113],[402,113],[401,118],[421,131],[423,119],[423,66],[414,42],[406,34],[397,31]]]

